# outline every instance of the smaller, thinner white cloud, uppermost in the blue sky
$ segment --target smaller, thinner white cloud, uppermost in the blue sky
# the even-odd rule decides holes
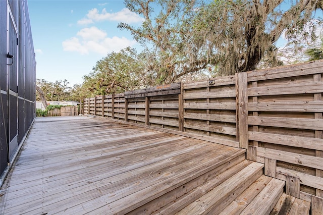
[[[138,23],[144,21],[144,19],[138,14],[131,12],[127,8],[124,8],[117,13],[108,13],[105,8],[100,13],[96,8],[94,8],[87,13],[86,17],[87,18],[83,18],[77,23],[80,25],[86,25],[99,21],[117,21],[125,23]]]

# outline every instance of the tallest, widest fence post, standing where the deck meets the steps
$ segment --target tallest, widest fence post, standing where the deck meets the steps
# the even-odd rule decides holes
[[[236,73],[237,141],[248,149],[248,81],[247,73]]]

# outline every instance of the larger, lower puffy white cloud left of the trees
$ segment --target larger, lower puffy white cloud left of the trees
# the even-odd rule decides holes
[[[76,51],[81,55],[90,52],[106,55],[109,52],[119,51],[134,44],[134,40],[129,40],[126,37],[107,37],[106,32],[96,27],[83,28],[77,32],[76,36],[62,42],[65,51]]]

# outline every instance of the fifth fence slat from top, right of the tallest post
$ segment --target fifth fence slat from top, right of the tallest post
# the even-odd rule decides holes
[[[249,131],[249,140],[323,151],[323,139]]]

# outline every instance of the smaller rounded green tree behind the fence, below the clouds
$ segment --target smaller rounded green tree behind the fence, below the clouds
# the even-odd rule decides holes
[[[129,47],[109,53],[96,62],[92,73],[83,77],[83,87],[92,92],[92,95],[147,87],[152,77],[145,73],[143,59],[143,55]]]

